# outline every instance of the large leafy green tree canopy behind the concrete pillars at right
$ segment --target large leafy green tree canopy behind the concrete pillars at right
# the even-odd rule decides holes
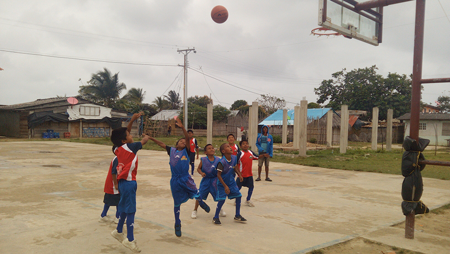
[[[411,78],[405,74],[389,73],[386,78],[377,74],[376,66],[354,69],[347,72],[343,69],[332,74],[332,79],[323,80],[318,88],[314,88],[319,96],[317,103],[328,101],[325,107],[340,110],[341,105],[348,105],[350,110],[368,111],[378,107],[379,119],[387,118],[387,110],[394,109],[394,118],[410,111]]]

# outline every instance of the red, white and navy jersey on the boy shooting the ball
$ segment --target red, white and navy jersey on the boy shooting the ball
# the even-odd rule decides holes
[[[126,143],[114,150],[117,155],[117,181],[125,179],[136,181],[137,173],[137,151],[142,149],[141,142]]]

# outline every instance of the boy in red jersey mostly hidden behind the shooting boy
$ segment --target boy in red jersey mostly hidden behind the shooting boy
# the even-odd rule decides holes
[[[119,194],[117,186],[117,164],[117,156],[115,156],[112,159],[111,164],[109,165],[109,171],[106,175],[105,187],[103,189],[105,192],[103,203],[105,203],[105,205],[103,206],[103,211],[99,218],[99,222],[102,223],[118,223],[119,213],[117,210],[117,205],[121,200],[121,195]],[[116,207],[116,213],[113,218],[111,218],[109,215],[106,215],[110,206]]]

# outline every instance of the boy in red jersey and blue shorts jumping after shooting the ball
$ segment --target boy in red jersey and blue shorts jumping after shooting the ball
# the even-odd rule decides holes
[[[142,149],[142,145],[147,143],[148,136],[144,134],[140,142],[133,142],[133,136],[130,135],[130,132],[133,122],[140,116],[140,113],[134,114],[127,128],[115,129],[111,133],[111,141],[114,144],[113,151],[117,155],[117,183],[119,193],[121,193],[121,200],[117,206],[120,217],[117,229],[111,232],[111,235],[134,252],[141,251],[133,235],[138,165],[136,153]],[[125,219],[127,220],[127,237],[123,233]]]

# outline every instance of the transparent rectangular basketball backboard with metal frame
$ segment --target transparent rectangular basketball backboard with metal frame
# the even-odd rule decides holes
[[[367,0],[319,0],[319,25],[347,38],[375,46],[381,43],[383,8],[364,11],[355,5]]]

